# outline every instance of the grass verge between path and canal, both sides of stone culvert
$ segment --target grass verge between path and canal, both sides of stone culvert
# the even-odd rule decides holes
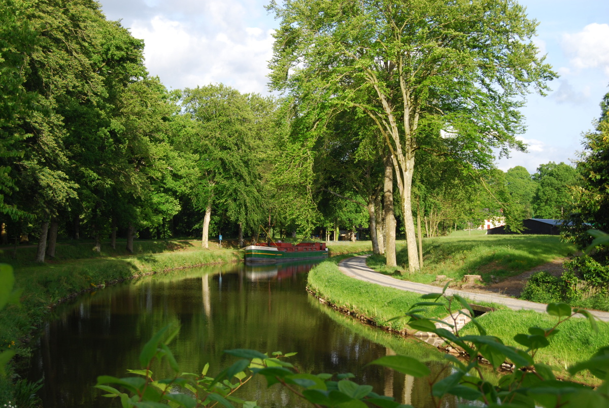
[[[420,301],[420,295],[380,285],[358,281],[340,273],[335,263],[323,262],[309,272],[309,288],[336,304],[370,317],[380,326],[390,326],[401,331],[406,327],[403,320],[388,322],[400,316],[412,304]],[[430,317],[445,317],[440,308],[428,309]],[[489,335],[501,338],[505,344],[517,346],[513,337],[527,333],[529,327],[552,327],[556,319],[544,313],[529,310],[501,309],[479,318]],[[595,333],[585,319],[573,318],[560,326],[560,333],[551,340],[551,345],[538,352],[536,360],[559,368],[588,359],[609,342],[609,324],[599,322]],[[473,325],[465,326],[463,334],[474,333]],[[594,383],[591,377],[580,376],[580,381]]]

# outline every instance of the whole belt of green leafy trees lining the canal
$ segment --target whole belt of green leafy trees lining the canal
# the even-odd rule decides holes
[[[388,265],[403,236],[414,271],[417,228],[566,218],[594,178],[590,155],[532,175],[494,164],[526,150],[519,108],[556,77],[530,41],[536,23],[499,3],[272,2],[279,96],[263,96],[168,90],[143,41],[97,2],[4,0],[2,243],[31,239],[44,262],[58,237],[92,238],[94,251],[117,238],[132,251],[136,237],[207,248],[219,234],[243,246],[272,224],[279,238],[359,231]],[[585,150],[602,151],[592,137]]]

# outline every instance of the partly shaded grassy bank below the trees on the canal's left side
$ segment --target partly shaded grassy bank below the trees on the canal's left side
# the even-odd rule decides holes
[[[62,299],[132,277],[209,263],[235,262],[242,257],[242,252],[231,249],[201,249],[200,241],[159,241],[136,243],[136,253],[130,256],[122,249],[111,252],[109,245],[102,246],[101,254],[91,251],[88,245],[59,246],[59,260],[36,264],[29,259],[27,252],[30,249],[35,251],[35,248],[19,248],[16,260],[6,252],[2,259],[12,263],[15,287],[23,289],[21,304],[9,305],[0,313],[0,350],[10,346],[18,351],[12,361],[11,373],[15,373],[14,368],[19,371],[27,364],[33,327],[43,321],[49,306]],[[0,378],[0,401],[13,398],[13,393],[10,377]]]

